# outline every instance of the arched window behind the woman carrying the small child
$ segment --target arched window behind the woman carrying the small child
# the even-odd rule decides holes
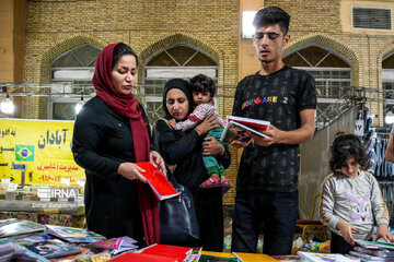
[[[188,80],[199,73],[212,78],[218,84],[218,61],[189,45],[174,45],[149,57],[143,67],[143,84],[140,86],[149,121],[153,122],[164,115],[162,94],[165,82],[174,78]]]

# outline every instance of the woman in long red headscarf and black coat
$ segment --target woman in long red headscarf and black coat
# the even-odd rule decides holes
[[[107,238],[129,236],[143,246],[160,240],[158,202],[144,170],[134,163],[151,162],[164,174],[165,166],[131,93],[137,66],[137,55],[123,43],[100,52],[92,80],[96,96],[77,116],[72,153],[86,174],[88,228]]]

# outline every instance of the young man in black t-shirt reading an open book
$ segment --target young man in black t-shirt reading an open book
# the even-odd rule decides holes
[[[290,15],[269,7],[254,17],[253,43],[260,70],[243,79],[235,92],[233,115],[271,122],[251,133],[236,181],[232,251],[256,252],[264,223],[267,254],[290,254],[298,217],[299,144],[313,136],[316,93],[314,79],[285,66],[281,55],[290,35]]]

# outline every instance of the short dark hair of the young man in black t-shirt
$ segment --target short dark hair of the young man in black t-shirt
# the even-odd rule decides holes
[[[287,35],[289,32],[290,15],[278,7],[268,7],[258,10],[253,19],[254,27],[259,28],[268,24],[279,24],[283,35]]]

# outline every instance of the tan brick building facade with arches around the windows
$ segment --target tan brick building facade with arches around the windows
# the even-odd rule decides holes
[[[291,39],[283,56],[311,46],[329,50],[348,63],[352,86],[382,90],[382,62],[394,52],[392,29],[351,26],[352,5],[392,10],[391,0],[27,0],[25,4],[24,83],[49,83],[53,61],[84,44],[103,48],[124,41],[137,51],[142,66],[158,51],[185,44],[218,61],[222,117],[231,114],[234,92],[223,86],[234,87],[259,67],[252,40],[241,38],[242,11],[268,5],[288,11]],[[142,78],[140,67],[138,83],[142,83]],[[368,102],[376,116],[374,126],[383,126],[383,95],[375,92],[369,96],[374,98]],[[47,118],[47,99],[23,97],[20,116]],[[232,153],[234,160],[228,177],[234,183],[240,152]],[[231,190],[225,203],[232,203],[233,196]]]

